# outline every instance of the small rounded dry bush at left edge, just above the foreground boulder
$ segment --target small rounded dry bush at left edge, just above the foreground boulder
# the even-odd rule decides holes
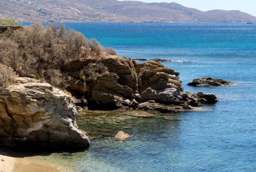
[[[13,83],[17,75],[12,68],[6,65],[0,64],[0,89],[7,87]]]

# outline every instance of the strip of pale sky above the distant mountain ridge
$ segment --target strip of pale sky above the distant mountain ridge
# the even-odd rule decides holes
[[[119,0],[121,1],[121,0]],[[208,11],[220,10],[240,10],[256,16],[255,0],[137,0],[143,2],[177,2],[186,7],[193,7],[198,10]]]

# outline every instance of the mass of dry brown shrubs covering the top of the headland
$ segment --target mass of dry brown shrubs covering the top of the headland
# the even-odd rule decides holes
[[[104,51],[116,54],[112,48],[104,49],[97,40],[87,40],[63,25],[42,24],[7,30],[0,37],[0,49],[0,64],[11,67],[21,77],[40,76],[60,88],[66,87],[68,80],[67,73],[62,71],[65,62],[100,58]]]

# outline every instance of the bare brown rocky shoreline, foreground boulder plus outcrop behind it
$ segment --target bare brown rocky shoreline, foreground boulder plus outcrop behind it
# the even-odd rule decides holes
[[[85,67],[98,71],[86,73]],[[87,148],[90,139],[78,129],[78,111],[144,110],[192,111],[217,102],[210,93],[184,92],[179,73],[158,62],[106,54],[105,57],[68,61],[67,90],[43,81],[18,78],[0,92],[0,143],[10,147]],[[67,95],[67,93],[69,95]]]

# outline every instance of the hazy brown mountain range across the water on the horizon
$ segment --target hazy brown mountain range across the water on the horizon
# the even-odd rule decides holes
[[[1,0],[0,14],[23,21],[256,22],[256,17],[238,10],[116,0]]]

